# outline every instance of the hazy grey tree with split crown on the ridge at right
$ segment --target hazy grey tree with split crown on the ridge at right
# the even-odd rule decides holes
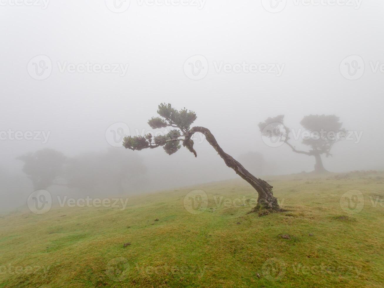
[[[293,152],[314,156],[315,165],[314,172],[322,173],[327,172],[323,166],[321,155],[325,154],[326,157],[332,156],[330,153],[333,145],[336,142],[345,139],[346,130],[342,128],[343,123],[339,122],[339,117],[335,115],[308,115],[301,121],[301,126],[305,131],[296,131],[297,136],[302,138],[302,143],[310,146],[309,151],[297,150],[295,146],[290,143],[291,129],[284,125],[284,115],[278,115],[274,118],[268,118],[265,122],[259,123],[260,131],[263,136],[275,137],[278,141],[284,142],[288,145]]]

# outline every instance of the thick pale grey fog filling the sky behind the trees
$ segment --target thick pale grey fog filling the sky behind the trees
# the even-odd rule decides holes
[[[1,1],[0,211],[33,192],[16,158],[41,149],[72,161],[72,177],[99,167],[78,177],[89,187],[50,188],[60,193],[144,193],[237,177],[202,135],[197,158],[184,147],[167,155],[111,145],[111,129],[127,132],[114,123],[131,136],[164,131],[147,124],[160,103],[194,111],[192,126],[210,129],[245,168],[258,155],[260,165],[249,167],[257,176],[314,168],[314,157],[265,143],[258,124],[281,114],[291,129],[304,116],[334,114],[354,132],[323,156],[328,171],[383,169],[381,1],[117,2]],[[133,163],[124,185],[91,184],[100,175],[113,183],[124,166],[117,159]]]

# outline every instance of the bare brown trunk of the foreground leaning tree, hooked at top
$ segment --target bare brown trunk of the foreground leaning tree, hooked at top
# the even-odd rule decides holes
[[[192,127],[190,131],[185,135],[185,140],[183,142],[183,146],[186,147],[190,152],[192,152],[195,157],[197,157],[196,151],[193,148],[193,141],[190,139],[195,132],[200,132],[205,135],[205,139],[209,142],[209,144],[214,147],[216,152],[222,157],[225,164],[235,170],[236,174],[242,177],[245,181],[247,181],[250,185],[258,193],[257,206],[253,209],[253,211],[260,209],[267,209],[270,211],[280,211],[280,207],[277,203],[277,199],[273,196],[272,186],[269,185],[262,179],[256,178],[247,169],[245,169],[242,164],[236,161],[232,156],[228,155],[223,151],[223,149],[217,144],[215,137],[209,131],[209,129],[205,127]]]

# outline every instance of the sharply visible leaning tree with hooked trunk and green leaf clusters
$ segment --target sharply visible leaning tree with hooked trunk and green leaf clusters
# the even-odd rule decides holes
[[[151,133],[146,134],[144,137],[141,136],[126,136],[124,137],[123,146],[126,149],[131,150],[142,150],[142,149],[154,149],[157,147],[163,147],[164,151],[171,155],[177,152],[183,144],[195,157],[197,153],[194,149],[194,141],[192,136],[196,132],[200,132],[205,135],[205,139],[208,143],[214,147],[216,152],[224,160],[225,164],[235,170],[235,172],[247,181],[258,193],[258,204],[253,209],[261,210],[267,209],[270,211],[279,211],[280,207],[277,203],[277,199],[273,197],[272,186],[269,185],[262,179],[258,179],[253,176],[250,172],[245,169],[242,164],[233,159],[232,156],[228,155],[223,149],[217,144],[215,137],[205,127],[195,126],[190,127],[191,124],[196,120],[196,114],[187,109],[181,109],[180,111],[172,108],[170,104],[160,104],[157,114],[160,117],[152,117],[148,121],[149,126],[152,129],[172,127],[173,129],[164,136],[153,137]]]

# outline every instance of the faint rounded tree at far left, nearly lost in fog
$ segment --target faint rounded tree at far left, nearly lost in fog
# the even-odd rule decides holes
[[[56,185],[56,180],[63,174],[66,157],[53,149],[42,149],[17,157],[24,162],[23,172],[31,179],[33,189],[47,189]]]

